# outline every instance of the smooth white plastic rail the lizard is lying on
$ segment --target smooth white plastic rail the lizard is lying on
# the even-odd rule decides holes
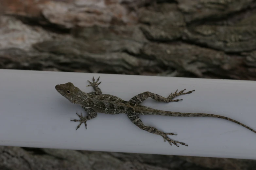
[[[196,78],[172,78],[88,73],[67,73],[0,69],[0,145],[189,155],[256,159],[256,134],[217,118],[140,116],[147,126],[188,144],[170,146],[158,135],[139,129],[127,115],[106,115],[87,122],[76,131],[77,113],[85,112],[56,90],[67,82],[84,92],[91,92],[87,80],[98,78],[103,93],[129,100],[150,91],[167,97],[177,89],[196,90],[177,97],[183,101],[156,102],[149,98],[142,105],[156,109],[210,113],[230,117],[256,129],[256,82]]]

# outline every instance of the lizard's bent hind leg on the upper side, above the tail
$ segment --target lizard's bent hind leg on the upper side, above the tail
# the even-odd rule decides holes
[[[186,90],[186,89],[184,89],[184,90]],[[139,104],[139,103],[143,102],[144,100],[146,100],[148,97],[151,97],[152,99],[154,99],[158,102],[166,102],[166,103],[168,103],[168,102],[178,102],[182,99],[177,99],[177,100],[172,100],[172,99],[174,99],[175,97],[177,97],[181,94],[189,94],[189,93],[192,93],[193,91],[195,91],[195,90],[192,90],[192,91],[183,93],[184,90],[182,90],[178,93],[177,93],[178,90],[176,90],[176,92],[171,93],[168,97],[163,97],[163,96],[160,96],[158,94],[151,93],[151,92],[143,92],[143,93],[140,93],[140,94],[134,96],[133,98],[131,98],[129,100],[129,102],[131,102],[133,104]]]

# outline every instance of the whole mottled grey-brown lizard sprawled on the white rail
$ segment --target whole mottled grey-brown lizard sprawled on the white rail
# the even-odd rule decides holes
[[[131,120],[131,122],[136,126],[138,126],[140,129],[145,130],[152,134],[160,135],[163,137],[164,142],[168,141],[170,145],[174,144],[177,147],[179,147],[178,144],[181,144],[184,146],[188,146],[188,145],[183,142],[172,140],[167,136],[167,135],[177,135],[177,134],[164,133],[155,127],[145,126],[138,115],[164,115],[164,116],[179,116],[179,117],[221,118],[221,119],[229,120],[239,125],[242,125],[245,128],[256,133],[255,130],[249,128],[248,126],[236,120],[233,120],[224,116],[220,116],[220,115],[207,114],[207,113],[172,112],[172,111],[153,109],[147,106],[139,105],[149,97],[151,97],[152,99],[158,102],[166,102],[166,103],[178,102],[178,101],[181,101],[182,99],[176,99],[176,100],[173,100],[173,99],[179,95],[190,94],[195,90],[192,90],[189,92],[184,92],[186,89],[181,90],[180,92],[176,90],[176,92],[171,93],[168,97],[163,97],[161,95],[158,95],[152,92],[143,92],[132,97],[129,101],[125,101],[119,97],[116,97],[110,94],[102,94],[101,89],[98,87],[98,85],[101,83],[101,82],[98,82],[99,78],[95,81],[93,77],[93,82],[88,80],[90,84],[87,85],[87,87],[92,86],[94,88],[94,91],[89,93],[81,91],[79,88],[74,86],[74,84],[71,82],[68,82],[65,84],[58,84],[55,86],[55,89],[62,96],[67,98],[71,103],[80,105],[88,113],[88,116],[86,117],[83,117],[82,113],[81,115],[76,113],[77,116],[80,118],[80,120],[71,120],[75,122],[77,121],[80,122],[76,130],[81,126],[82,123],[85,124],[85,129],[87,129],[87,121],[96,118],[97,112],[98,112],[98,113],[105,113],[105,114],[120,114],[120,113],[127,114],[128,119]]]

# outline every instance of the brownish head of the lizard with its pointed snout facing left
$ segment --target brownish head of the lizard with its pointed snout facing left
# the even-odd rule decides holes
[[[58,84],[55,89],[71,103],[77,103],[80,90],[73,83]]]

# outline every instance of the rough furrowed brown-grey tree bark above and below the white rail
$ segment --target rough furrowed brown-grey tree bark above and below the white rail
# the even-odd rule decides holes
[[[0,68],[256,80],[256,0],[0,0]],[[256,161],[0,147],[1,169],[253,170]]]

